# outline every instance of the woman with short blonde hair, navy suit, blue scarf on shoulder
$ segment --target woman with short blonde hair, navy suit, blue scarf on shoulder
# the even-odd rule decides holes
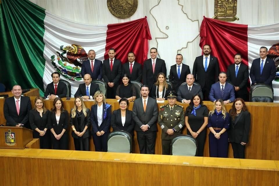
[[[95,151],[108,151],[108,134],[110,132],[111,105],[106,104],[105,95],[98,90],[94,94],[94,105],[91,107],[90,121]]]

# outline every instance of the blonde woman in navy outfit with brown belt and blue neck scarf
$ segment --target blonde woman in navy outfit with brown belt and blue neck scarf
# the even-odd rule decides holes
[[[209,112],[208,125],[210,130],[209,155],[210,157],[228,157],[228,128],[230,126],[230,116],[226,111],[223,100],[217,99],[213,110]]]

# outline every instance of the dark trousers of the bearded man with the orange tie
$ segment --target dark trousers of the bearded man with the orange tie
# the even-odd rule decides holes
[[[137,142],[139,143],[141,154],[154,154],[156,131],[137,131]]]

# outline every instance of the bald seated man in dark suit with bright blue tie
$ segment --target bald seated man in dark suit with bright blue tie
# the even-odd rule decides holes
[[[80,96],[83,100],[93,99],[94,94],[99,89],[99,85],[96,83],[91,83],[92,78],[90,74],[85,74],[83,77],[84,83],[78,85],[78,90],[76,91],[75,97]]]

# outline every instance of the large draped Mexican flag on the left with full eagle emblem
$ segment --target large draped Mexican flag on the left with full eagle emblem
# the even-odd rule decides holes
[[[90,49],[96,59],[108,58],[115,48],[116,58],[127,61],[133,51],[136,61],[147,59],[151,39],[145,18],[108,25],[88,25],[57,17],[28,0],[2,0],[0,4],[0,81],[8,88],[44,88],[51,73],[71,83],[71,94],[83,83],[81,64]],[[3,47],[3,48],[2,48]]]

